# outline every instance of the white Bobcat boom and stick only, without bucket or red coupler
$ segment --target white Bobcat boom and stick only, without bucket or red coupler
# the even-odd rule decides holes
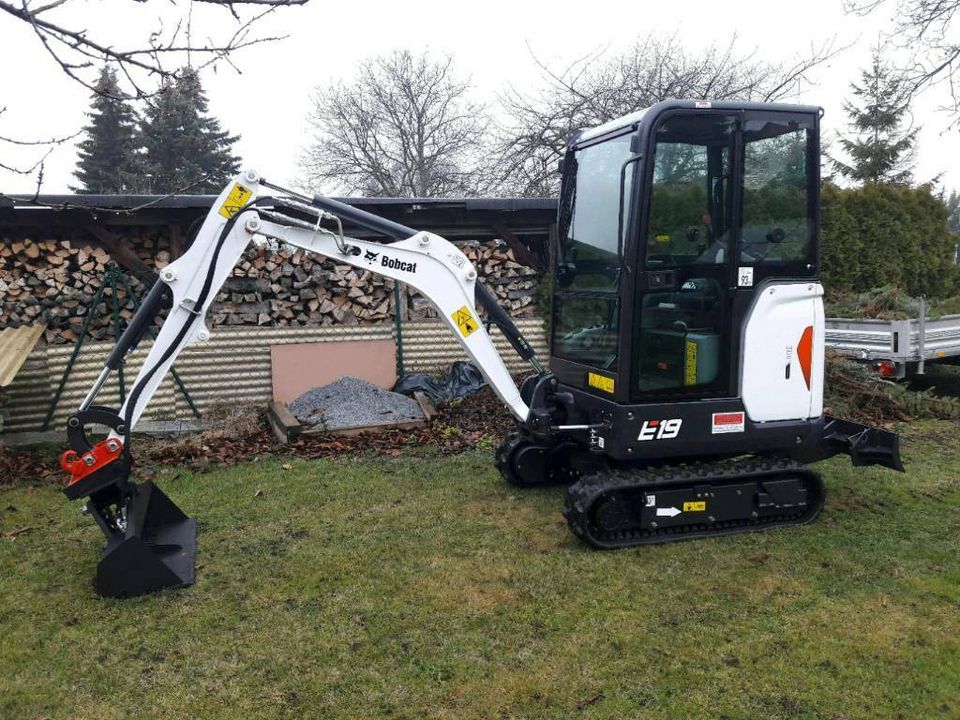
[[[504,404],[519,420],[526,420],[528,408],[479,322],[474,304],[477,271],[453,243],[416,231],[390,244],[347,238],[321,224],[330,215],[326,211],[289,196],[263,198],[258,205],[258,191],[255,173],[238,176],[217,198],[190,249],[161,271],[160,282],[168,288],[172,307],[121,409],[127,438],[180,351],[209,339],[204,323],[207,310],[256,237],[302,248],[415,288],[437,307]],[[312,217],[306,220],[305,215]]]

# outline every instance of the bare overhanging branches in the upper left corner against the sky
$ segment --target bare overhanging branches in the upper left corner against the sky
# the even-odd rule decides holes
[[[143,0],[127,2],[145,4]],[[217,23],[218,34],[210,36],[204,32],[202,39],[198,39],[193,27],[194,0],[169,0],[154,18],[156,29],[126,45],[106,39],[103,29],[78,25],[76,9],[83,5],[79,0],[0,0],[0,18],[28,26],[53,62],[74,82],[99,92],[97,79],[109,65],[123,79],[124,87],[129,88],[117,99],[140,99],[152,96],[164,82],[174,80],[184,66],[201,70],[223,62],[236,69],[233,53],[281,39],[258,34],[259,21],[280,8],[307,2],[309,0],[196,0],[200,5],[222,7],[230,19],[229,23]],[[73,18],[73,21],[63,18]],[[6,110],[0,107],[0,121]],[[46,157],[78,134],[38,139],[0,133],[0,150],[6,146],[4,158],[15,147],[36,150],[33,158],[26,162],[0,162],[0,169],[33,176],[39,192]]]

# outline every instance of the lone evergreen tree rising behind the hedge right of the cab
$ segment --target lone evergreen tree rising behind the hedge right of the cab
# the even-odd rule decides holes
[[[854,137],[839,141],[850,163],[834,160],[834,168],[856,182],[909,184],[918,130],[900,128],[910,109],[902,75],[885,63],[880,48],[875,48],[870,68],[861,74],[861,84],[851,87],[860,104],[844,103],[844,110]]]

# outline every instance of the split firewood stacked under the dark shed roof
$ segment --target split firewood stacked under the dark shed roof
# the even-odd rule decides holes
[[[125,238],[131,249],[157,270],[171,260],[166,239],[141,234]],[[500,243],[463,246],[480,277],[514,316],[535,311],[537,272],[516,262]],[[107,250],[67,240],[3,240],[0,242],[0,328],[37,320],[48,324],[47,341],[73,342],[100,287],[111,257]],[[134,292],[146,288],[132,273]],[[412,289],[404,288],[405,319],[435,317],[432,306]],[[120,316],[135,312],[132,298],[118,292]],[[388,321],[393,317],[393,281],[369,270],[311,256],[281,246],[250,248],[234,268],[211,306],[213,325],[356,325]],[[90,328],[94,340],[112,340],[112,298],[109,290],[96,308]]]

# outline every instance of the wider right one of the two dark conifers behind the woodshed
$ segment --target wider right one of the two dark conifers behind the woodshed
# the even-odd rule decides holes
[[[196,70],[184,68],[147,105],[141,141],[151,193],[219,192],[240,167],[230,135],[208,114]]]

